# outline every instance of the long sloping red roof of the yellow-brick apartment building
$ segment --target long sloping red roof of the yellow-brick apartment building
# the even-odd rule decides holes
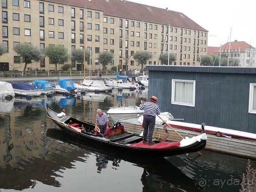
[[[185,14],[125,0],[48,0],[61,4],[103,10],[104,15],[143,20],[156,24],[171,25],[187,29],[205,31],[203,27],[188,18]]]

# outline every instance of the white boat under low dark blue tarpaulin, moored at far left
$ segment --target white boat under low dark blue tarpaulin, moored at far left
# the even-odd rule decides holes
[[[17,96],[27,96],[31,95],[36,97],[42,94],[44,90],[37,89],[29,83],[26,82],[11,82],[13,91]]]

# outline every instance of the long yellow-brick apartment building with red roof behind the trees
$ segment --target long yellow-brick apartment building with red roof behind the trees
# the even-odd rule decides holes
[[[0,70],[23,70],[24,63],[13,52],[21,42],[40,49],[53,44],[65,46],[70,53],[82,49],[85,42],[92,50],[92,70],[101,69],[97,58],[103,51],[114,53],[109,69],[125,69],[123,57],[144,50],[153,55],[148,65],[157,65],[161,50],[176,55],[174,65],[199,65],[201,52],[205,55],[207,51],[208,31],[183,13],[129,1],[2,0],[0,38],[8,48],[6,56],[0,57]],[[29,63],[28,68],[55,70],[49,63],[46,57]],[[81,64],[72,62],[72,69],[81,70]],[[134,69],[140,66],[132,57],[129,70]]]

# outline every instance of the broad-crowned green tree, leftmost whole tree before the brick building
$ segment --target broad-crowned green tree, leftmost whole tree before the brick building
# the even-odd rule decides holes
[[[32,61],[39,62],[44,58],[44,53],[31,44],[18,44],[13,50],[19,55],[20,61],[25,63],[23,71],[26,71],[28,63],[31,63]]]

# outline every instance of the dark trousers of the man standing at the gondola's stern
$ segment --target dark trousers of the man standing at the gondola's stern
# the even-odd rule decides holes
[[[156,124],[156,117],[151,116],[151,115],[144,115],[143,116],[143,140],[146,141],[147,137],[147,132],[148,132],[148,143],[152,143],[152,137],[153,137],[153,132],[155,129],[155,124]]]

